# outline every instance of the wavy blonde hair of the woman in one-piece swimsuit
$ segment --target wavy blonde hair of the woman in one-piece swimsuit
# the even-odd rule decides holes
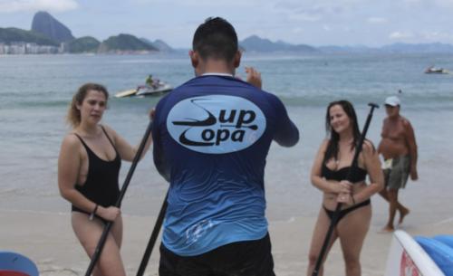
[[[89,90],[101,91],[105,95],[105,100],[109,100],[109,92],[103,85],[92,82],[83,84],[77,93],[72,96],[71,105],[68,109],[66,121],[72,126],[72,128],[76,128],[81,123],[81,110],[77,109],[77,104],[82,105],[82,102],[85,100]]]

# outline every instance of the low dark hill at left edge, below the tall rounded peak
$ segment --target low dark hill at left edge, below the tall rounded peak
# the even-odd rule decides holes
[[[59,43],[44,36],[42,33],[34,33],[17,28],[0,28],[0,43],[36,43],[39,45],[58,46]]]

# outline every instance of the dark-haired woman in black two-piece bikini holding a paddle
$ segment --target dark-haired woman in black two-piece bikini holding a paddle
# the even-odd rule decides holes
[[[336,239],[340,239],[345,274],[360,276],[361,246],[371,221],[370,197],[383,188],[381,161],[371,141],[365,140],[358,167],[351,168],[361,133],[355,110],[349,101],[330,103],[325,125],[329,137],[323,141],[314,159],[311,175],[313,186],[323,191],[323,206],[314,226],[307,275],[313,273],[335,207],[342,203],[342,213],[335,225],[329,250]],[[349,169],[352,169],[351,182],[345,180]],[[367,174],[370,176],[369,185],[365,183]],[[323,270],[319,275],[323,275]]]

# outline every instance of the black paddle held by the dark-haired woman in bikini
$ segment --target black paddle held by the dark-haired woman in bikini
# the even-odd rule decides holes
[[[361,146],[363,145],[363,141],[365,140],[365,137],[366,137],[366,134],[368,131],[368,127],[370,126],[372,112],[376,108],[379,109],[379,106],[375,103],[369,103],[368,105],[371,106],[370,113],[368,114],[368,118],[365,122],[365,126],[363,127],[363,131],[361,131],[361,137],[359,138],[359,143],[357,144],[357,146],[355,148],[354,157],[352,158],[352,165],[348,171],[348,174],[346,175],[346,180],[351,179],[352,167],[357,167],[357,163],[359,160],[359,154],[361,153]],[[333,228],[338,223],[338,218],[340,216],[341,209],[342,209],[342,203],[338,203],[335,208],[335,212],[333,213],[333,218],[331,220],[331,225],[329,226],[329,230],[325,234],[323,247],[321,248],[321,252],[319,253],[318,260],[316,260],[316,264],[314,266],[312,276],[318,276],[321,265],[323,264],[323,258],[324,258],[325,252],[327,251],[327,247],[329,246],[329,241],[331,240],[331,237],[332,237]]]

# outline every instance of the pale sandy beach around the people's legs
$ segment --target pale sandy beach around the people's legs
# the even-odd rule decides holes
[[[304,275],[314,217],[296,217],[287,222],[270,222],[275,273],[280,276]],[[124,215],[125,233],[121,254],[128,275],[135,275],[154,226],[155,217]],[[1,248],[21,252],[38,266],[42,276],[84,275],[89,264],[70,224],[70,214],[29,211],[0,211]],[[403,227],[403,229],[405,229]],[[405,229],[411,235],[451,233],[453,220]],[[371,225],[361,254],[362,275],[383,275],[391,233],[379,233]],[[159,252],[151,256],[145,275],[158,275]],[[325,275],[343,275],[342,252],[335,243],[325,265]]]

